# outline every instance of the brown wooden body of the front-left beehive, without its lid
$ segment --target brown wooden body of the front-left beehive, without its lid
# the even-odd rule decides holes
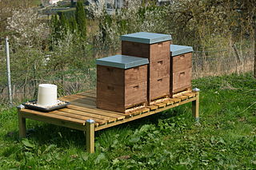
[[[147,68],[140,65],[118,69],[98,65],[97,107],[125,113],[126,109],[147,101]],[[76,100],[76,102],[81,99]]]

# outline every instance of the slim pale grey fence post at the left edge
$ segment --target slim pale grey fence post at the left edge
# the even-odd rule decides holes
[[[8,79],[8,94],[9,94],[9,101],[10,105],[13,105],[13,96],[11,93],[11,81],[10,81],[10,51],[9,51],[9,38],[6,37],[6,72],[7,72],[7,79]]]

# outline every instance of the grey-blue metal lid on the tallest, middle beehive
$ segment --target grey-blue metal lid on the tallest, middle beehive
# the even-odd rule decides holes
[[[134,34],[122,35],[121,40],[127,41],[127,42],[140,42],[144,44],[154,44],[158,42],[170,41],[171,36],[168,34],[139,32]]]

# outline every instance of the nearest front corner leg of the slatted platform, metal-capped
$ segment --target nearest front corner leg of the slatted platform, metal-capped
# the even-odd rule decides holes
[[[94,153],[94,123],[93,120],[86,121],[86,152]]]

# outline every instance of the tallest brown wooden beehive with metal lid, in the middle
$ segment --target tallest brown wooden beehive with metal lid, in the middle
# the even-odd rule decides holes
[[[148,101],[170,95],[170,40],[167,34],[135,33],[121,36],[122,55],[146,57]]]

